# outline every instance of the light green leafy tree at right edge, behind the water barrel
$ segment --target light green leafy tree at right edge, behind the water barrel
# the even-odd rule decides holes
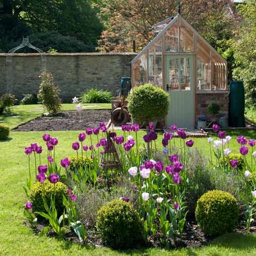
[[[246,106],[256,107],[256,2],[248,1],[238,9],[244,19],[234,41],[237,68],[233,70],[233,76],[244,82]]]

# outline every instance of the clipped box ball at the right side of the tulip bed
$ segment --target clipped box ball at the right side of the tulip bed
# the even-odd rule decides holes
[[[208,191],[197,201],[197,223],[211,237],[232,231],[238,217],[237,199],[228,192]]]

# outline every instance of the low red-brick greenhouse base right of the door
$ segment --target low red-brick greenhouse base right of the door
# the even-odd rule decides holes
[[[208,104],[216,102],[220,105],[220,116],[228,117],[228,92],[206,92],[197,93],[196,95],[196,120],[199,116],[212,118],[207,111]]]

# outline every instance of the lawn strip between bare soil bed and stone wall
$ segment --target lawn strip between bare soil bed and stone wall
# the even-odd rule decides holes
[[[83,109],[111,109],[111,104],[81,104]],[[62,110],[75,110],[75,104],[62,104]],[[6,117],[0,116],[0,122],[6,124],[13,129],[19,124],[24,124],[29,120],[32,120],[38,116],[41,116],[44,112],[42,105],[18,105],[14,106],[14,114]]]

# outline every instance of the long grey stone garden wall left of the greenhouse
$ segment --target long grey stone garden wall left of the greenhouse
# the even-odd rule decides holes
[[[63,102],[70,102],[81,92],[97,87],[116,95],[122,77],[130,77],[130,62],[136,53],[57,53],[45,54],[46,68],[60,88]],[[12,57],[12,75],[6,80],[6,55],[0,54],[0,95],[7,84],[13,85],[18,99],[25,93],[37,93],[40,79],[41,55],[17,53]]]

